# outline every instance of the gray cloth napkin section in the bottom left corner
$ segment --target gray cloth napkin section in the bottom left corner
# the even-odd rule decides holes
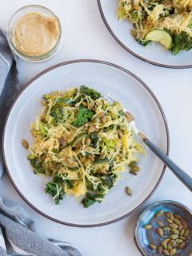
[[[33,221],[15,202],[0,198],[1,256],[82,256],[70,243],[38,236]]]

